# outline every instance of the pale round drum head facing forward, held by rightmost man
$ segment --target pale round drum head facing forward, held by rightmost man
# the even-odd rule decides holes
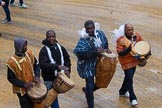
[[[139,54],[139,55],[146,55],[150,51],[150,46],[145,41],[137,42],[134,48],[135,48],[135,51],[137,52],[137,54]]]

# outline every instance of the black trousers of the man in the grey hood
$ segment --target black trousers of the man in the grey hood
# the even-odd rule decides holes
[[[21,96],[20,93],[17,93],[17,96],[19,98],[19,103],[20,103],[21,108],[33,108],[33,102],[27,96],[27,94]]]

